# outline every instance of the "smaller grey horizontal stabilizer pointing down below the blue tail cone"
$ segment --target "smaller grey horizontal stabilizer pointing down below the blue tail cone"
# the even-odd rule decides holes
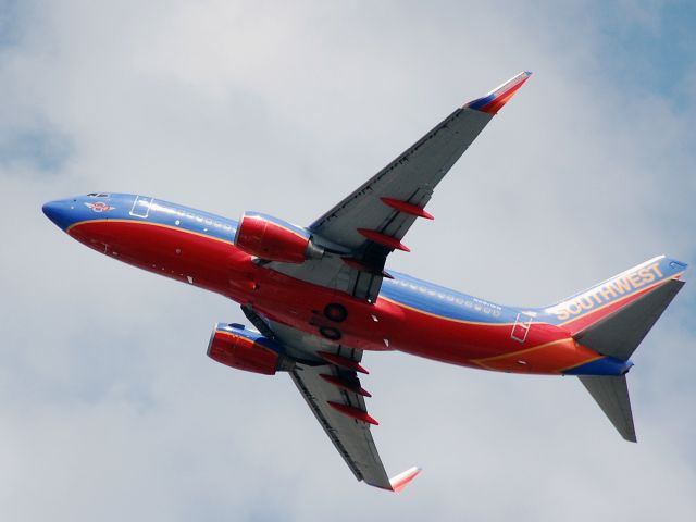
[[[579,378],[621,436],[631,443],[635,443],[635,427],[633,425],[626,376],[583,375]]]

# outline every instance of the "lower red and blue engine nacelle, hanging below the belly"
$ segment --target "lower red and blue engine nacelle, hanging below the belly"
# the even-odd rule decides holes
[[[217,323],[210,336],[208,357],[227,366],[274,375],[284,370],[283,347],[240,324]]]

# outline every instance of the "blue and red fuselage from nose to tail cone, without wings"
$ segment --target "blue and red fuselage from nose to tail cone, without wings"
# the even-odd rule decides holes
[[[349,310],[341,345],[400,350],[513,373],[622,374],[631,363],[579,344],[545,309],[502,307],[390,272],[374,303],[289,277],[235,247],[237,222],[159,199],[95,194],[47,203],[70,236],[105,256],[223,295],[274,322],[319,336],[321,310]]]

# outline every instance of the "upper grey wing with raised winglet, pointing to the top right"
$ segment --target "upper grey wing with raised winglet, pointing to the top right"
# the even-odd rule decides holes
[[[374,301],[387,256],[408,251],[401,239],[417,217],[433,219],[423,209],[436,185],[478,136],[490,119],[526,82],[523,72],[447,116],[401,156],[312,223],[314,240],[333,254],[300,265],[272,263],[310,283]]]

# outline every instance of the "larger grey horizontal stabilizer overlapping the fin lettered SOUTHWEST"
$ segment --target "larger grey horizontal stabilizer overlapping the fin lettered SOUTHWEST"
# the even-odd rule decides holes
[[[625,361],[635,351],[683,285],[683,281],[670,279],[587,326],[573,337],[602,356]]]

